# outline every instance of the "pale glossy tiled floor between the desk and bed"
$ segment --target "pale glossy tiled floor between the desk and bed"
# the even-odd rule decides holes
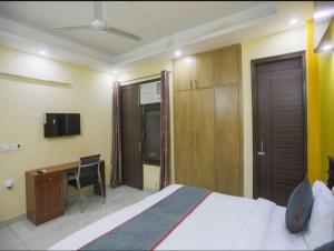
[[[0,250],[48,249],[79,229],[109,213],[136,203],[149,194],[122,185],[117,189],[107,189],[106,204],[102,204],[100,197],[94,194],[82,197],[84,213],[80,213],[79,201],[73,200],[73,202],[68,203],[65,215],[39,227],[24,219],[0,228]]]

